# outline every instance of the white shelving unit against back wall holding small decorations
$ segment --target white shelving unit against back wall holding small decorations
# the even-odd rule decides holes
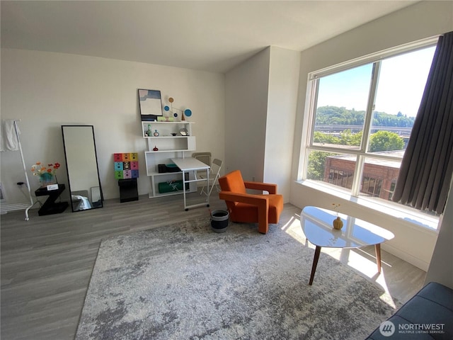
[[[182,171],[159,173],[159,164],[171,164],[172,158],[184,158],[185,152],[196,150],[195,136],[192,135],[193,122],[144,122],[142,121],[142,136],[147,139],[148,151],[144,152],[147,176],[151,179],[149,198],[182,194],[183,190],[170,193],[159,193],[159,183],[166,181],[183,181]],[[187,130],[181,135],[180,130]],[[154,136],[154,132],[159,136]],[[151,131],[151,136],[148,136]],[[157,148],[158,150],[154,150]],[[192,174],[186,174],[192,176]],[[188,180],[188,179],[186,179]],[[187,192],[196,191],[197,187],[190,183]]]

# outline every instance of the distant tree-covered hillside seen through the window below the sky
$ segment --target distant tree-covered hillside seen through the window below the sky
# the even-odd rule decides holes
[[[354,109],[321,106],[316,111],[316,125],[363,125],[364,119],[365,111],[355,111]],[[401,113],[389,115],[389,113],[376,111],[372,125],[412,128],[414,120],[414,117],[406,117]]]

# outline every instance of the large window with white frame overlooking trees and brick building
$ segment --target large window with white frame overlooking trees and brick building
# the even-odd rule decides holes
[[[434,52],[386,51],[311,74],[302,178],[391,200]]]

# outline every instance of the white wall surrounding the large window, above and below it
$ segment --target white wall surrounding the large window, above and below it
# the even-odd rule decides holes
[[[304,108],[306,106],[306,85],[309,72],[386,48],[440,35],[450,30],[453,30],[453,2],[423,1],[303,51],[301,54],[292,180],[297,181],[299,179],[300,141],[302,140],[302,125],[306,123]],[[382,227],[394,232],[396,237],[391,242],[386,242],[383,249],[423,270],[428,269],[437,239],[435,232],[413,228],[411,223],[402,218],[391,218],[378,210],[365,208],[349,200],[343,200],[335,195],[317,191],[295,182],[292,186],[290,202],[300,208],[305,205],[320,205],[330,208],[331,203],[341,203],[345,212],[365,218],[369,222],[382,225]]]

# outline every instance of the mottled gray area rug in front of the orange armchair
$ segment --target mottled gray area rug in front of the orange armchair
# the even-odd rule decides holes
[[[363,339],[393,312],[373,283],[314,249],[299,221],[209,217],[101,243],[76,339]],[[398,306],[397,306],[398,307]]]

